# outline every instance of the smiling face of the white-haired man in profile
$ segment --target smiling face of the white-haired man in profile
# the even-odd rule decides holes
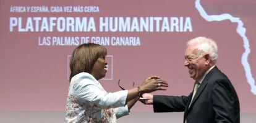
[[[204,56],[199,56],[199,52],[195,49],[195,46],[188,46],[185,51],[184,66],[189,68],[189,75],[195,81],[198,81],[203,77],[203,74],[207,71],[208,63]]]

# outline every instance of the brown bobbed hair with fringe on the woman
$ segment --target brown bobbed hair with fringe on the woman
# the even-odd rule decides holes
[[[76,74],[86,72],[91,73],[93,65],[95,64],[96,60],[99,57],[105,57],[107,51],[105,47],[99,44],[82,44],[77,47],[70,58],[70,76],[69,81],[71,78]]]

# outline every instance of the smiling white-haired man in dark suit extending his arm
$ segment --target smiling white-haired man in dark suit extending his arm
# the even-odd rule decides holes
[[[240,122],[239,100],[228,77],[217,68],[216,42],[198,37],[187,42],[184,66],[195,80],[188,96],[143,94],[155,113],[184,111],[184,123]],[[159,84],[158,84],[159,85]],[[193,94],[194,93],[194,94]]]

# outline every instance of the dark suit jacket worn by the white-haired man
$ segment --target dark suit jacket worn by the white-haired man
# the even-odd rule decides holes
[[[228,77],[215,66],[198,87],[189,107],[189,96],[154,95],[155,113],[184,111],[184,122],[240,122],[239,100]]]

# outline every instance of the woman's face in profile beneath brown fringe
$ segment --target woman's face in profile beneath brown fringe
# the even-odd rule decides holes
[[[107,65],[104,57],[99,57],[92,68],[92,76],[95,77],[96,80],[99,80],[106,76]]]

